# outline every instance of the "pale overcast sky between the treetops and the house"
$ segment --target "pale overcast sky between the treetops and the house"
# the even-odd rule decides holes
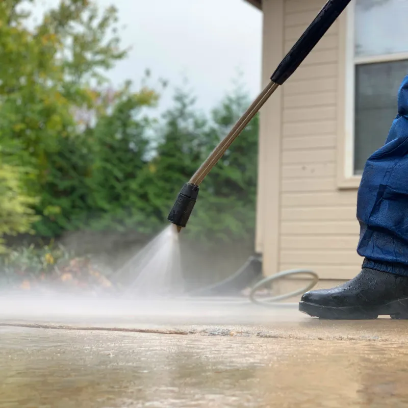
[[[112,0],[97,0],[101,6]],[[149,68],[152,77],[170,81],[163,98],[168,106],[171,86],[183,77],[195,92],[197,106],[212,108],[232,87],[238,72],[251,96],[260,90],[262,13],[244,0],[115,0],[129,57],[112,71],[120,82],[139,83]],[[163,106],[162,105],[162,106]]]

